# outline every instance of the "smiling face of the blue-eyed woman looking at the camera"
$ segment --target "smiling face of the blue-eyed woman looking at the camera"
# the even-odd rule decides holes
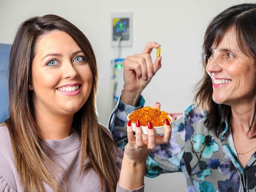
[[[63,31],[42,35],[35,47],[30,89],[36,111],[73,115],[92,88],[93,75],[86,55]]]

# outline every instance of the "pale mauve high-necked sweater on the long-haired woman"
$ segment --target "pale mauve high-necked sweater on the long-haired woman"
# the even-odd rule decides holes
[[[46,140],[50,148],[56,153],[59,165],[64,168],[68,177],[68,192],[100,192],[100,179],[96,172],[91,169],[88,173],[77,178],[80,168],[81,143],[77,132],[61,140]],[[116,167],[121,170],[123,151],[113,148]],[[89,158],[85,159],[85,164]],[[44,183],[46,192],[54,192],[50,186]],[[103,192],[108,186],[104,185]],[[144,186],[132,192],[143,192]],[[0,127],[0,192],[23,192],[20,177],[15,168],[13,149],[7,127]],[[116,192],[131,192],[117,186]]]

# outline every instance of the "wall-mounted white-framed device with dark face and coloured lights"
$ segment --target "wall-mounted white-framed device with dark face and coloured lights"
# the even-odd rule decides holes
[[[111,15],[111,44],[117,46],[118,37],[122,37],[120,46],[132,46],[132,13],[112,13]]]

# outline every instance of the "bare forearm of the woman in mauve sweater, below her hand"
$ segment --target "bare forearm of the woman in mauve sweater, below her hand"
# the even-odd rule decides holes
[[[122,168],[119,177],[119,186],[124,189],[134,190],[144,185],[145,162],[130,160],[124,154]]]

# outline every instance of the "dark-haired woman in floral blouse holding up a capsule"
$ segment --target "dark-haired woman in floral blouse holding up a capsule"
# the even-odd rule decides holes
[[[119,146],[126,142],[124,111],[144,104],[141,91],[160,68],[161,57],[152,64],[149,55],[159,46],[148,43],[142,54],[124,61],[121,101],[109,125]],[[256,4],[236,5],[213,18],[195,103],[173,123],[171,141],[150,153],[148,177],[182,171],[189,192],[256,190],[255,61]]]

